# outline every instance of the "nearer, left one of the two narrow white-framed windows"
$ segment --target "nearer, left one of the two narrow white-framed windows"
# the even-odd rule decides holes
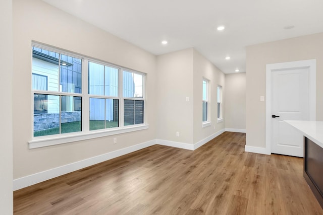
[[[202,79],[202,127],[210,125],[209,80]]]

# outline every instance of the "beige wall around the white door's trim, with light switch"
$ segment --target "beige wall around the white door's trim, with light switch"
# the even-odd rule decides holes
[[[316,59],[316,120],[323,120],[323,33],[247,47],[246,145],[265,148],[266,64]],[[268,98],[265,98],[265,100]]]

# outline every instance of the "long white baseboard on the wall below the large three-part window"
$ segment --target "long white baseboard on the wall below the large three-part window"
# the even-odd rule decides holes
[[[155,144],[156,144],[156,140],[150,140],[150,141],[143,142],[143,143],[135,145],[135,146],[127,147],[127,148],[113,151],[110,153],[106,153],[103,155],[88,158],[88,159],[85,159],[82,161],[67,164],[67,165],[64,165],[61,167],[56,167],[56,168],[53,168],[50,170],[45,170],[45,171],[42,171],[39,173],[35,173],[35,174],[28,175],[28,176],[25,176],[22,178],[18,178],[18,179],[15,179],[13,182],[14,183],[13,189],[14,189],[14,191],[19,190],[21,188],[28,187],[30,185],[37,184],[42,181],[46,181],[51,178],[55,178],[55,177],[58,177],[58,176],[88,167],[88,166],[92,166],[94,164],[101,163],[103,161],[107,161],[107,160],[110,160],[110,159],[113,159],[113,158],[116,158],[116,157],[119,157],[122,155],[126,155],[131,152],[135,152],[137,150],[144,149],[146,147],[153,146]]]

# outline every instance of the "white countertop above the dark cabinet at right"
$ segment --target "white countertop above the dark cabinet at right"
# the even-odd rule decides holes
[[[284,120],[323,148],[323,121]]]

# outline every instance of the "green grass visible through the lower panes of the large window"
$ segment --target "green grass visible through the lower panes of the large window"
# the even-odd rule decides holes
[[[114,128],[118,127],[118,122],[114,121],[106,121],[106,128]],[[104,121],[103,120],[90,120],[90,130],[104,129]],[[81,121],[77,122],[67,122],[62,123],[61,133],[71,133],[81,131]],[[60,128],[49,128],[46,130],[34,131],[34,136],[47,136],[53,134],[59,134]]]

